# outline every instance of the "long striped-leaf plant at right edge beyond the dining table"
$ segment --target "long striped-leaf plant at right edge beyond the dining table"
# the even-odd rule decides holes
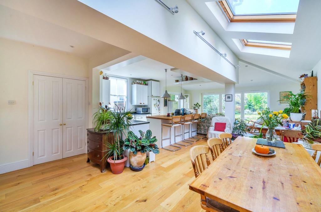
[[[321,142],[321,120],[312,120],[308,125],[305,125],[301,133],[303,135],[303,146],[311,149],[311,144]]]

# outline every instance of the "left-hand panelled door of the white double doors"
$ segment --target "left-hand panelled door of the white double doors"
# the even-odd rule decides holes
[[[62,78],[33,76],[33,164],[61,159]]]

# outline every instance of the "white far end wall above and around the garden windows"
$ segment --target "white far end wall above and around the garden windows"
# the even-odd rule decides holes
[[[298,93],[300,91],[300,84],[298,83],[284,83],[284,84],[271,84],[268,86],[256,86],[256,87],[236,87],[235,93],[241,91],[254,91],[254,90],[265,90],[269,91],[270,94],[270,108],[271,110],[283,110],[288,104],[280,104],[280,91],[292,91]],[[185,93],[189,93],[192,96],[191,104],[194,105],[196,102],[201,104],[201,94],[202,93],[224,93],[224,88],[222,89],[206,89],[206,90],[186,90]],[[202,106],[201,106],[202,108]]]

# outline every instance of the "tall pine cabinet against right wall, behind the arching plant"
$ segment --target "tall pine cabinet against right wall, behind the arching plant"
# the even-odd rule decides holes
[[[313,109],[317,110],[317,77],[307,77],[301,83],[301,90],[304,90],[304,93],[308,95],[307,101],[303,108],[306,115],[304,120],[312,119],[312,111]]]

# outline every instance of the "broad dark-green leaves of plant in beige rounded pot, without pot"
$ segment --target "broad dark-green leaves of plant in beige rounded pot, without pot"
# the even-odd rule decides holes
[[[157,139],[156,136],[152,137],[152,131],[147,130],[146,134],[143,131],[139,131],[140,138],[138,138],[134,132],[129,131],[127,138],[125,139],[124,150],[129,149],[135,155],[137,152],[145,153],[152,151],[155,154],[158,154],[160,150],[155,144]]]

